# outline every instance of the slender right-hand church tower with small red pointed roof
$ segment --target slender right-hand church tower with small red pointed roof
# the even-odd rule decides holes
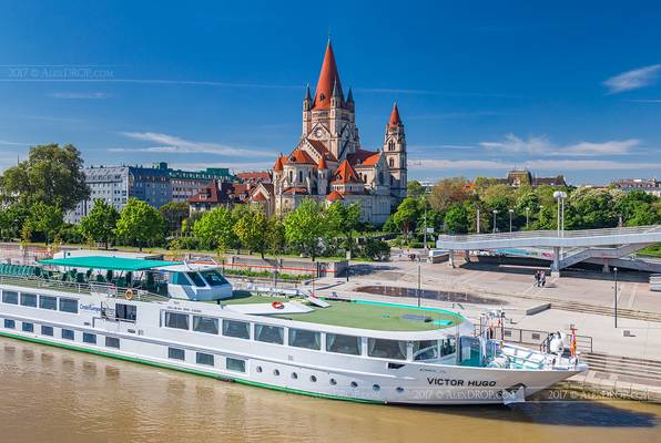
[[[393,105],[390,120],[386,124],[384,153],[390,172],[390,194],[398,199],[404,199],[406,197],[406,135],[397,103]]]

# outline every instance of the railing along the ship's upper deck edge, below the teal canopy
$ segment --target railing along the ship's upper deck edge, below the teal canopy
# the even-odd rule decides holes
[[[102,295],[112,298],[126,298],[136,301],[167,301],[170,298],[136,288],[123,288],[109,284],[62,281],[40,277],[16,277],[0,275],[0,284],[30,289],[50,289],[71,293]]]

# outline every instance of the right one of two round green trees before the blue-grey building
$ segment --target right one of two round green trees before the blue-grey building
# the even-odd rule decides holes
[[[115,234],[142,250],[146,244],[162,241],[164,229],[165,220],[159,210],[131,197],[120,213]]]

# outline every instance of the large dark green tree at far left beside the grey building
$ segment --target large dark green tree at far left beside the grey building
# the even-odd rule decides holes
[[[80,152],[73,145],[33,146],[28,159],[4,171],[0,192],[28,206],[41,202],[62,210],[73,209],[90,195],[82,166]]]

